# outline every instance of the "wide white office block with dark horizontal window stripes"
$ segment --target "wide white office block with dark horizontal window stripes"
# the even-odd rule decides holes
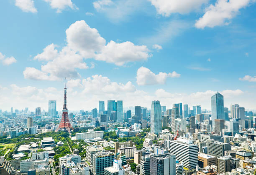
[[[169,147],[170,153],[176,156],[179,163],[183,162],[185,168],[196,168],[198,164],[198,148],[196,144],[193,144],[192,140],[185,138],[171,140]]]

